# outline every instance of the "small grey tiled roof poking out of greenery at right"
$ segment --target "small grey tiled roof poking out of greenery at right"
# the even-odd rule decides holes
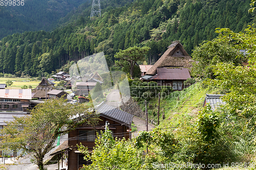
[[[208,103],[212,111],[215,111],[220,105],[225,105],[226,102],[221,100],[221,96],[224,94],[206,94],[204,100],[204,106]]]

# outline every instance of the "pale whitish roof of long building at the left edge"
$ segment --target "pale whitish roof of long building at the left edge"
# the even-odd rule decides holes
[[[3,99],[32,99],[31,89],[0,89],[0,98]]]

